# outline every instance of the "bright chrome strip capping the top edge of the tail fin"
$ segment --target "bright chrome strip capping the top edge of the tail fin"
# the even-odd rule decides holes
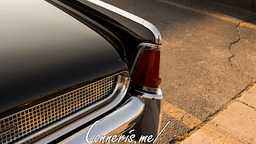
[[[80,2],[81,0],[78,0],[78,2]],[[155,43],[156,44],[161,44],[161,34],[158,30],[158,28],[156,28],[153,24],[151,24],[150,22],[147,22],[145,19],[143,18],[139,18],[138,16],[134,15],[134,14],[130,14],[129,12],[119,9],[118,7],[112,6],[106,2],[102,2],[100,0],[86,0],[88,2],[94,3],[95,5],[101,6],[103,8],[105,8],[106,10],[110,10],[116,14],[122,15],[125,18],[129,18],[130,20],[137,22],[139,24],[141,24],[142,26],[145,26],[147,29],[151,30],[151,32],[154,34],[154,38],[155,38]]]

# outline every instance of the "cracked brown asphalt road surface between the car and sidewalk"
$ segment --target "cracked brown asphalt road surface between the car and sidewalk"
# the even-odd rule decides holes
[[[158,143],[179,142],[255,82],[254,0],[103,1],[162,34],[162,126],[170,125]]]

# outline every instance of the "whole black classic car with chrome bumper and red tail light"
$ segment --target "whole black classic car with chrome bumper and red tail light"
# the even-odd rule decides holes
[[[98,0],[2,0],[0,18],[1,143],[156,138],[162,44],[150,22]]]

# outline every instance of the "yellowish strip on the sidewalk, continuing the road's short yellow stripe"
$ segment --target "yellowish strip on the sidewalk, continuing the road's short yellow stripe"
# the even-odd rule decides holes
[[[204,134],[209,135],[211,138],[214,138],[218,142],[226,143],[226,144],[242,144],[244,142],[239,141],[237,138],[235,138],[232,134],[226,133],[226,131],[219,129],[218,127],[207,124],[206,126],[203,126],[199,131],[201,131]]]

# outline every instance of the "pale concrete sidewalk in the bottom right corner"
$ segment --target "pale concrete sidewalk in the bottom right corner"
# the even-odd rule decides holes
[[[190,143],[256,143],[256,86],[182,142]]]

